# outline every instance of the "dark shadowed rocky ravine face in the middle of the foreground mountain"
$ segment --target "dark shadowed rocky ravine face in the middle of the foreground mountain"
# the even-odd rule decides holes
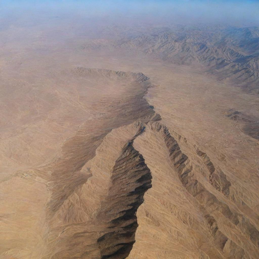
[[[136,212],[143,203],[144,193],[152,186],[151,172],[132,143],[126,144],[115,162],[109,194],[97,212],[97,220],[105,221],[109,228],[97,240],[103,259],[128,256],[138,227]]]

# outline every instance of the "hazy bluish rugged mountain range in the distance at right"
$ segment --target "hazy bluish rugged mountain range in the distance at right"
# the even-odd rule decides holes
[[[118,33],[118,40],[94,40],[85,47],[103,45],[138,49],[178,64],[201,64],[218,80],[241,86],[259,94],[259,28],[232,26],[174,25],[133,34],[107,27],[104,38]]]

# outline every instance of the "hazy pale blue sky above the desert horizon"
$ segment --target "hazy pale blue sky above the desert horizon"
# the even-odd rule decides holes
[[[93,1],[93,0],[0,0],[0,13],[12,15],[45,12],[80,16],[134,16],[167,19],[178,23],[259,26],[259,0],[181,0],[181,1]]]

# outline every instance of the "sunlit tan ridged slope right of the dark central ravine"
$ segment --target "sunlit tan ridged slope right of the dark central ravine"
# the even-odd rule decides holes
[[[219,168],[215,170],[204,152],[159,122],[150,124],[135,143],[153,179],[152,189],[146,193],[145,202],[137,213],[143,226],[139,223],[136,243],[129,258],[137,255],[138,258],[146,258],[146,254],[170,258],[169,254],[173,253],[177,253],[179,258],[257,257],[258,217],[247,216],[246,206],[242,212],[239,210],[232,198],[237,193],[232,189],[230,179]],[[197,150],[196,156],[200,159],[195,158],[193,151],[189,158],[180,146],[187,147],[189,152],[190,149]],[[154,163],[155,157],[150,150],[155,147],[159,150],[157,157],[163,157],[161,162],[156,160]],[[186,196],[184,190],[191,197]],[[186,211],[182,204],[188,202],[189,210]],[[198,225],[197,221],[200,222]],[[164,250],[157,251],[161,239],[164,240]],[[154,244],[154,248],[148,248],[149,242]],[[199,242],[199,246],[193,244],[187,252],[186,246],[193,242]],[[141,249],[145,252],[141,253]]]

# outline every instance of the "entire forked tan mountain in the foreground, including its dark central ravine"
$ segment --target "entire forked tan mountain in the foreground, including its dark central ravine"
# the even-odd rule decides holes
[[[187,258],[256,258],[258,218],[236,206],[235,183],[196,145],[144,121],[112,130],[82,167],[91,176],[57,211],[62,224],[49,221],[51,258],[186,258],[186,242]]]

